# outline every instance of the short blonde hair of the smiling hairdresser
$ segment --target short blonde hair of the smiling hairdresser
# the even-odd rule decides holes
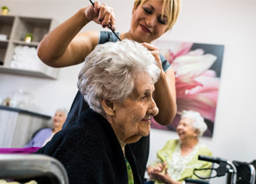
[[[155,1],[155,0],[154,0]],[[144,4],[148,0],[135,0],[133,9],[136,10],[139,4]],[[181,0],[163,0],[162,16],[164,11],[168,12],[168,24],[165,32],[173,27],[176,23],[177,17],[180,12]]]

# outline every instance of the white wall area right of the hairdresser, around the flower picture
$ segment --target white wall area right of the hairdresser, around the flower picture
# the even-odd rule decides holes
[[[183,0],[176,27],[163,37],[225,45],[214,136],[203,138],[202,142],[215,156],[244,162],[256,159],[255,10],[255,1]],[[152,130],[150,161],[155,158],[156,150],[174,137],[175,133]],[[221,179],[213,181],[225,183]]]

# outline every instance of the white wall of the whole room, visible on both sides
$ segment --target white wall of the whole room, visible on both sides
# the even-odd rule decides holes
[[[118,31],[129,29],[132,0],[104,0],[115,10]],[[11,14],[54,17],[63,22],[87,1],[23,1],[2,0]],[[25,10],[26,9],[26,10]],[[125,13],[124,13],[125,12]],[[256,120],[256,1],[252,0],[182,0],[181,15],[176,26],[162,39],[194,41],[225,45],[221,72],[221,88],[215,118],[214,136],[202,138],[214,155],[230,160],[251,162],[256,159],[254,140]],[[90,23],[86,29],[100,29]],[[32,93],[35,110],[51,115],[59,106],[71,105],[76,92],[80,66],[61,69],[59,79],[34,79],[0,73],[0,98],[17,88]],[[176,133],[151,131],[150,162],[157,149]],[[224,181],[215,181],[222,183]]]

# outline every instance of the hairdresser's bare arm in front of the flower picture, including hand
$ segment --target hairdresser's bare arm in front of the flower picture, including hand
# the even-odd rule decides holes
[[[160,78],[155,84],[154,99],[156,101],[159,113],[154,117],[159,124],[170,124],[176,115],[176,87],[175,87],[175,75],[170,68],[166,73],[163,71],[162,63],[159,57],[158,48],[150,45],[149,43],[143,43],[148,48],[151,54],[154,55],[161,68]]]

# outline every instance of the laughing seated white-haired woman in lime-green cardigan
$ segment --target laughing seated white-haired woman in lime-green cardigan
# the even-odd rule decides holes
[[[193,174],[194,168],[211,168],[210,162],[197,159],[198,155],[212,155],[212,152],[198,140],[205,130],[207,124],[200,113],[183,111],[176,128],[179,139],[168,141],[163,149],[157,152],[157,161],[147,168],[152,180],[147,182],[179,184],[186,178],[198,179]],[[210,171],[204,173],[205,176],[209,174]]]

